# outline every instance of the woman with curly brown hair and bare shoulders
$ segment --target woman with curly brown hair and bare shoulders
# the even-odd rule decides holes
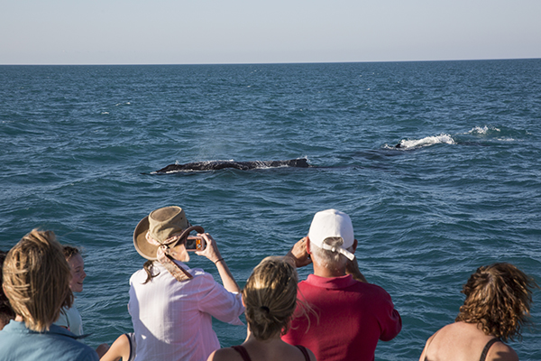
[[[419,360],[518,360],[504,342],[522,338],[535,287],[513,264],[479,267],[463,286],[466,300],[455,322],[428,338]]]

